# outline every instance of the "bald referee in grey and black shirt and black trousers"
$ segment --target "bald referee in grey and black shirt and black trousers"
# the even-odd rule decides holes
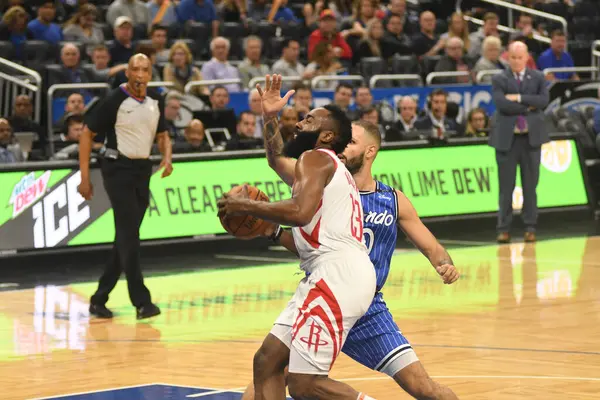
[[[92,139],[98,136],[106,148],[100,166],[114,211],[115,241],[98,290],[90,300],[90,314],[112,318],[106,302],[121,272],[125,271],[129,298],[137,310],[137,319],[143,319],[160,314],[144,285],[139,257],[140,225],[150,198],[152,163],[148,158],[155,137],[163,155],[160,164],[164,168],[163,178],[171,175],[173,166],[162,97],[147,89],[152,78],[148,57],[143,54],[131,57],[126,76],[127,83],[112,90],[86,116],[87,127],[79,141],[81,184],[78,190],[86,200],[94,194],[90,182],[90,151]]]

